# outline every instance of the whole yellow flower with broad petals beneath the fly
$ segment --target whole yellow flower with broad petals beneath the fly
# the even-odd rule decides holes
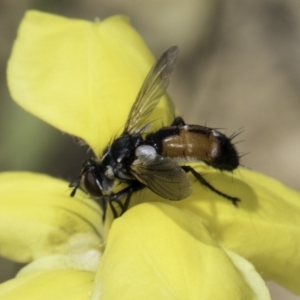
[[[154,58],[124,17],[70,20],[30,11],[8,65],[16,102],[86,141],[96,155],[121,132]],[[167,97],[155,110],[174,116]],[[263,175],[198,172],[168,201],[147,189],[106,227],[97,204],[45,175],[0,176],[0,254],[29,262],[0,285],[1,299],[270,299],[264,280],[300,294],[300,195]]]

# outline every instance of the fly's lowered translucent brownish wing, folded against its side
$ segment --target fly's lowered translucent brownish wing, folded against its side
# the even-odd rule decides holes
[[[170,158],[158,154],[138,156],[131,165],[131,173],[152,192],[165,199],[181,200],[191,194],[188,176]]]

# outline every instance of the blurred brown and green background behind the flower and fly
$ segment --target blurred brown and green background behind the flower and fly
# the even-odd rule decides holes
[[[7,89],[7,60],[28,9],[89,20],[126,14],[156,56],[178,45],[169,93],[185,121],[228,135],[242,128],[242,164],[300,190],[299,1],[1,0],[0,169],[70,180],[87,148],[27,114]],[[18,267],[1,260],[0,280]],[[300,299],[270,286],[273,299]]]

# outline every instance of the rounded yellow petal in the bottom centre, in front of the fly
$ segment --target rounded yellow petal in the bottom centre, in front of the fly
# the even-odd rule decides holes
[[[220,248],[198,216],[141,204],[113,223],[92,299],[269,299],[258,273],[241,261]]]

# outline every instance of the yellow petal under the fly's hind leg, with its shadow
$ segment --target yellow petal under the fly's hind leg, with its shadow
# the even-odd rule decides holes
[[[243,168],[234,174],[201,165],[195,169],[205,174],[215,188],[240,198],[238,207],[201,186],[192,176],[193,194],[172,204],[200,216],[221,245],[251,261],[265,280],[300,294],[300,194],[275,179]],[[137,194],[137,198],[143,199],[144,193]],[[168,203],[153,193],[146,201]]]

